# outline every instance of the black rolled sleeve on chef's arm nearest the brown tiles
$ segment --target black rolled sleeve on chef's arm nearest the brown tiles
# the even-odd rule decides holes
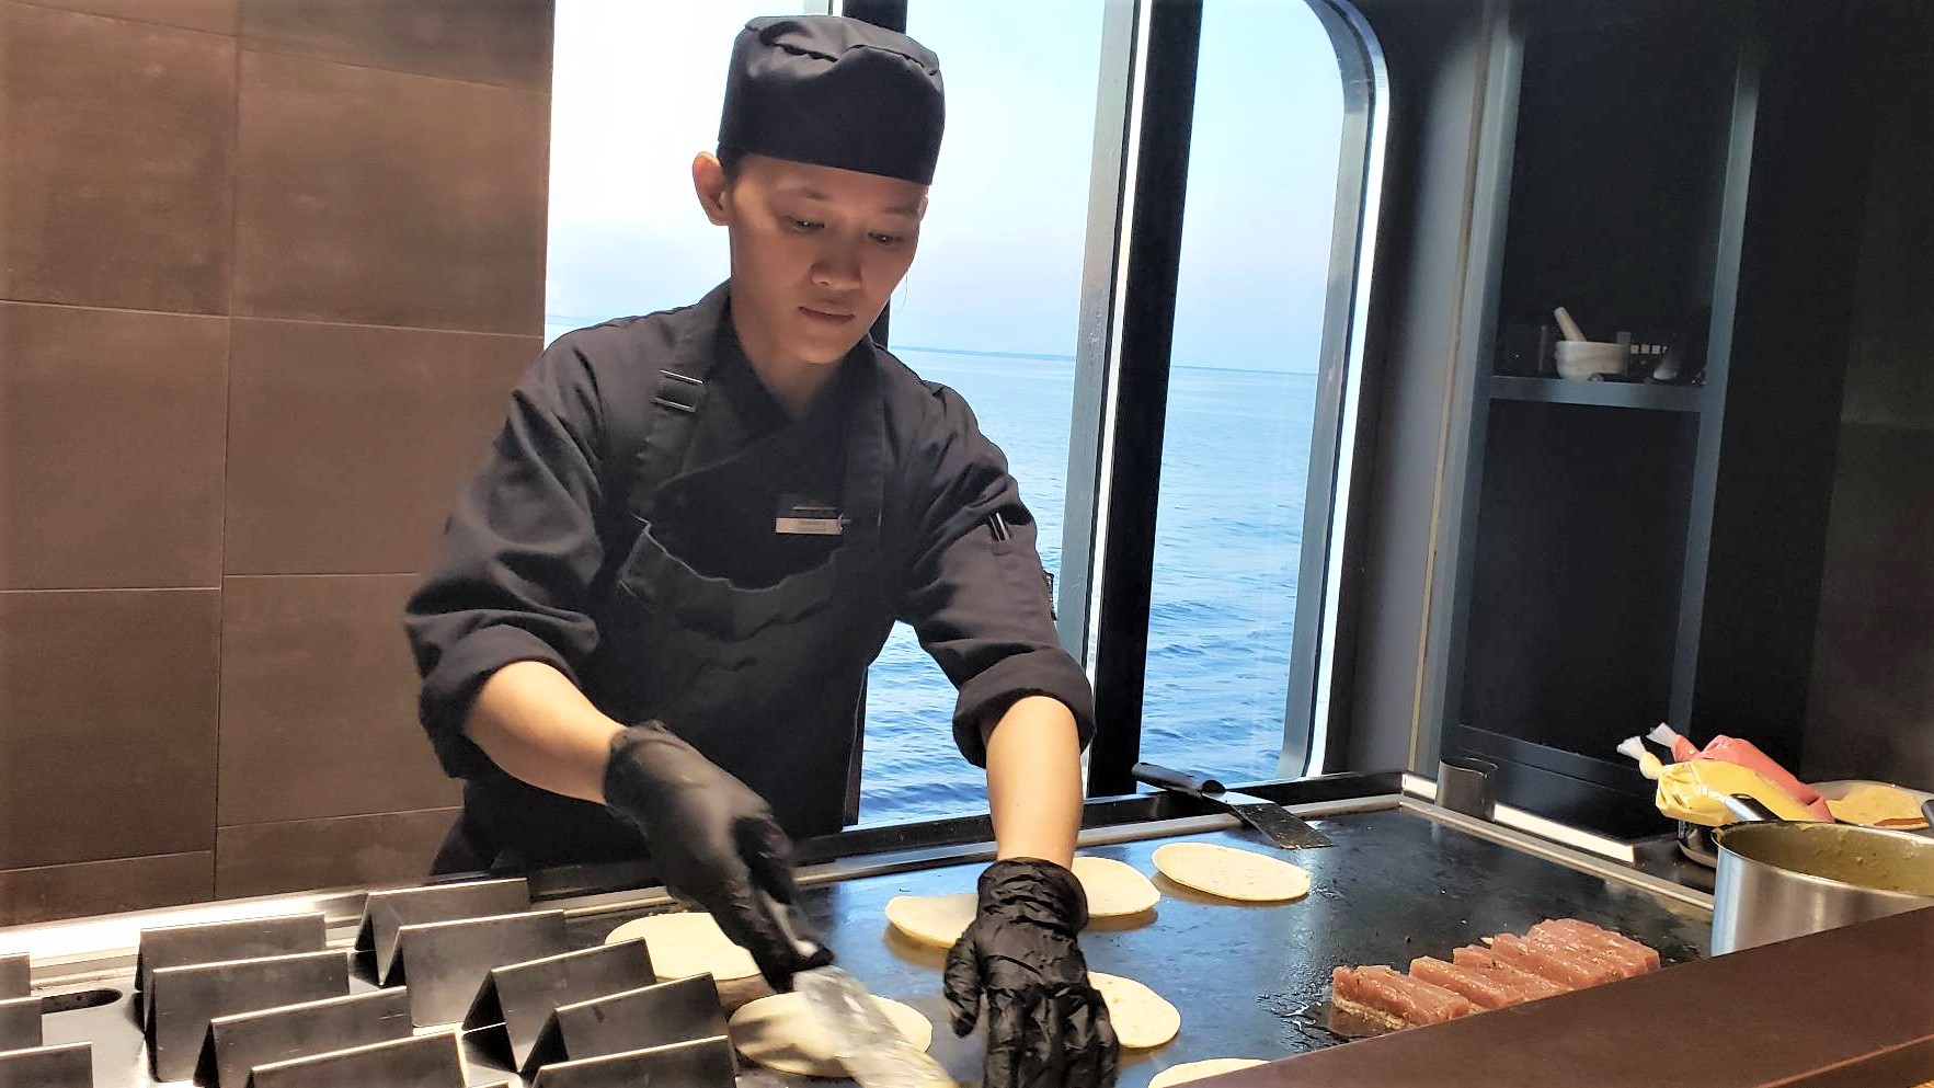
[[[495,671],[543,661],[576,682],[598,647],[586,599],[603,562],[600,462],[598,388],[565,336],[513,394],[487,464],[458,495],[437,560],[404,607],[424,680],[418,717],[453,777],[487,765],[464,717]]]

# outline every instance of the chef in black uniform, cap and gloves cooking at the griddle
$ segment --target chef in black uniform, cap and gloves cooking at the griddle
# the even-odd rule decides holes
[[[866,667],[905,620],[959,688],[998,839],[946,962],[953,1030],[984,1018],[988,1088],[1106,1088],[1070,872],[1093,692],[1006,458],[868,336],[942,118],[905,35],[739,33],[718,153],[692,162],[731,278],[543,352],[408,603],[422,721],[464,779],[435,868],[648,854],[787,988],[824,962],[777,926],[791,839],[845,825]]]

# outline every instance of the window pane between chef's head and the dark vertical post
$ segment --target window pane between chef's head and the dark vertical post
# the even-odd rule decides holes
[[[959,390],[1008,454],[1060,568],[1087,222],[1100,0],[1037,4],[1027,35],[984,6],[915,0],[907,33],[940,56],[948,131],[921,253],[894,296],[890,344]],[[868,674],[861,821],[986,808],[953,748],[953,686],[899,624]]]

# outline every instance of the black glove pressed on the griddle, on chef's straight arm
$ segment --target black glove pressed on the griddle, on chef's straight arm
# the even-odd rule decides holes
[[[984,1088],[1110,1088],[1122,1047],[1089,986],[1075,933],[1087,924],[1081,881],[1035,858],[981,873],[981,910],[948,953],[953,1034],[986,995]]]

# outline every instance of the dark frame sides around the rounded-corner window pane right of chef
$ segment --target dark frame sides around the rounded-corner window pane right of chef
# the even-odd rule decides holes
[[[1304,2],[1336,48],[1344,126],[1278,777],[1336,765],[1348,721],[1344,620],[1358,601],[1348,530],[1363,499],[1356,460],[1389,131],[1389,73],[1369,23],[1346,0]],[[1089,796],[1133,792],[1141,756],[1199,48],[1199,0],[1108,0],[1060,578],[1062,644],[1095,684]]]

